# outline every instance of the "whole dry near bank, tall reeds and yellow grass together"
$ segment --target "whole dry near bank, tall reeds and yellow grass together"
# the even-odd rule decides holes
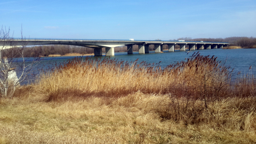
[[[199,53],[164,68],[72,59],[0,99],[0,144],[253,144],[256,81],[240,75]]]

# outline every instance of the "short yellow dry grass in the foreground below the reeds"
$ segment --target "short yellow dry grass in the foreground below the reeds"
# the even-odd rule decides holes
[[[137,92],[56,103],[27,94],[0,101],[1,143],[256,142],[255,98],[220,101],[198,116],[200,122],[187,124],[161,117],[172,113],[168,95]]]

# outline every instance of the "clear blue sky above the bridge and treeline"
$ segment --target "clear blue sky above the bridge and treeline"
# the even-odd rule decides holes
[[[13,37],[256,37],[256,0],[0,0]]]

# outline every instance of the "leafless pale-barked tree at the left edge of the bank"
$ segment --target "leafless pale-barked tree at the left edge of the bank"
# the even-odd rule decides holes
[[[25,58],[26,39],[19,39],[21,45],[16,45],[10,37],[10,28],[0,30],[0,93],[4,98],[12,97],[16,87],[26,81],[28,77],[35,76],[35,66],[40,57]],[[18,76],[17,76],[18,75]]]

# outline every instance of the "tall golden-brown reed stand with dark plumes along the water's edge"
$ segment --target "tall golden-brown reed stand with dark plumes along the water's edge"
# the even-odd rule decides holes
[[[45,72],[39,89],[50,99],[65,100],[73,96],[122,96],[137,91],[142,93],[177,93],[205,102],[226,95],[229,68],[219,65],[216,58],[193,54],[187,61],[161,68],[159,63],[148,64],[118,61],[116,59],[75,58],[61,63],[51,72]],[[184,89],[186,89],[184,91]],[[69,94],[68,94],[69,95]],[[69,96],[69,98],[73,97]],[[51,98],[55,97],[55,98]]]

